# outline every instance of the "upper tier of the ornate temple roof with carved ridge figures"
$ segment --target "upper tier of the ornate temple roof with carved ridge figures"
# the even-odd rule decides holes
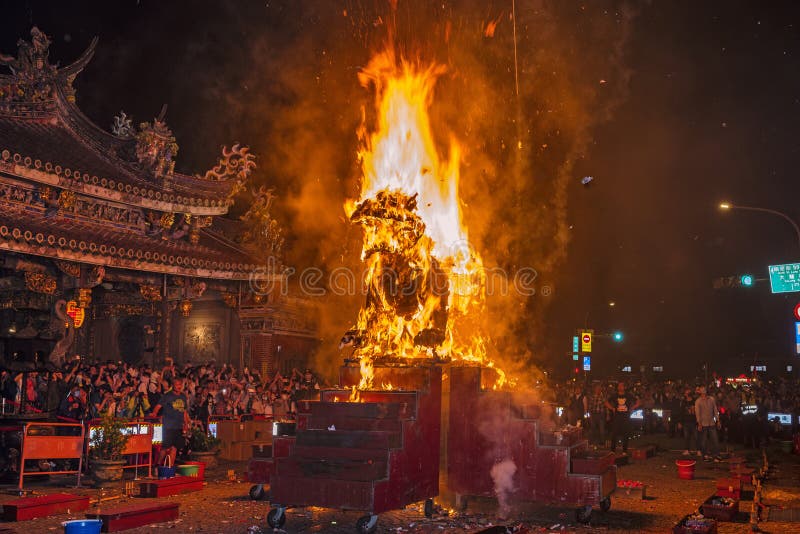
[[[97,40],[74,63],[48,61],[49,39],[37,28],[20,40],[17,58],[0,55],[0,168],[28,180],[97,198],[192,215],[221,215],[254,168],[247,148],[223,149],[203,175],[174,171],[178,145],[162,116],[138,127],[121,113],[113,132],[75,104],[72,82]]]

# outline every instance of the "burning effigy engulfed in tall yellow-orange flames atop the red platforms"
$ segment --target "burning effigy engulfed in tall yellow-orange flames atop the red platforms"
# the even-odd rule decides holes
[[[360,131],[361,197],[348,202],[361,225],[366,303],[343,341],[361,364],[359,389],[373,388],[376,359],[433,358],[494,367],[480,320],[485,273],[470,246],[458,196],[460,148],[441,156],[428,108],[444,68],[375,56],[359,75],[376,92],[377,124]],[[498,385],[505,374],[498,369]],[[356,393],[354,392],[354,397]]]

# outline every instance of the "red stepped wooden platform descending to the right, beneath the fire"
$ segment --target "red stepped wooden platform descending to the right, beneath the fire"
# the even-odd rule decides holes
[[[491,472],[509,460],[515,467],[508,494],[513,502],[610,503],[615,457],[591,453],[580,428],[558,428],[541,404],[494,390],[493,369],[453,365],[449,375],[447,487],[457,498],[494,497]]]

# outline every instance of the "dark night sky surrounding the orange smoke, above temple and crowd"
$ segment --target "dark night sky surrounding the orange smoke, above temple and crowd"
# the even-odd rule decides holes
[[[450,3],[461,10],[487,6],[480,19],[506,2]],[[181,145],[179,166],[206,168],[219,145],[239,140],[269,153],[268,162],[277,161],[292,157],[273,152],[268,142],[281,135],[281,106],[294,105],[286,95],[297,89],[295,83],[315,79],[311,71],[325,65],[319,49],[347,31],[328,31],[342,25],[341,16],[333,19],[341,6],[317,4],[326,7],[20,1],[3,7],[0,51],[12,53],[16,40],[28,38],[37,24],[53,38],[51,60],[64,64],[99,35],[97,55],[76,87],[79,104],[101,126],[120,109],[148,120],[166,102]],[[362,2],[344,4],[352,11]],[[522,9],[536,3],[517,4]],[[597,358],[606,361],[625,355],[663,363],[669,373],[692,374],[705,360],[720,368],[731,361],[743,366],[737,358],[749,365],[755,354],[791,357],[791,310],[800,297],[771,295],[766,283],[714,291],[711,281],[742,272],[763,278],[768,264],[800,257],[786,222],[716,209],[719,201],[730,200],[800,216],[793,201],[800,193],[800,5],[633,5],[636,16],[622,55],[630,75],[627,91],[620,91],[624,99],[610,118],[592,127],[588,148],[570,171],[571,241],[560,269],[543,277],[555,292],[536,297],[552,300],[533,326],[540,332],[535,352],[551,365],[563,360],[566,368],[572,330],[588,318],[597,331],[619,328],[626,334],[621,346],[598,343]],[[466,26],[454,27],[457,32]],[[611,42],[584,50],[604,55]],[[254,47],[262,47],[262,63],[253,63]],[[313,61],[303,56],[307,50],[315,51]],[[331,61],[330,71],[341,66]],[[296,82],[276,74],[284,64],[300,70],[308,64],[310,71]],[[342,92],[355,91],[356,70],[348,68],[317,77],[312,89],[332,95],[332,84],[350,80],[353,87]],[[352,109],[339,117],[336,131],[315,128],[313,116],[308,119],[308,143],[354,131],[358,106],[349,98],[338,104],[330,99],[330,105]],[[259,113],[248,115],[248,108]],[[228,122],[209,122],[226,115]],[[254,119],[258,124],[250,123]],[[352,171],[346,161],[339,165],[345,174]],[[595,177],[588,188],[580,185],[585,175]],[[347,186],[340,187],[334,196],[344,194]],[[285,216],[292,217],[291,211]],[[300,243],[318,237],[303,235],[297,223],[294,230]],[[616,306],[609,308],[609,301]]]

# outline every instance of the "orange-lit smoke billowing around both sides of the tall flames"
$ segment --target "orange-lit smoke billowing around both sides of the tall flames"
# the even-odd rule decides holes
[[[553,297],[543,289],[557,294],[567,257],[576,162],[591,150],[594,128],[627,97],[626,46],[637,13],[624,0],[516,4],[514,20],[511,0],[198,2],[188,8],[191,31],[179,34],[173,22],[185,6],[143,3],[133,16],[147,21],[147,31],[120,27],[78,82],[88,89],[100,73],[106,95],[129,93],[131,70],[169,83],[144,84],[133,109],[84,87],[78,98],[108,101],[100,124],[121,106],[148,119],[166,101],[181,144],[178,166],[189,172],[213,165],[222,144],[250,145],[253,185],[278,195],[285,263],[297,273],[319,269],[322,286],[339,269],[361,268],[360,229],[343,211],[345,199],[358,198],[357,130],[364,113],[369,125],[373,108],[359,71],[387,41],[420,64],[445,65],[431,109],[437,142],[443,153],[451,138],[461,145],[470,242],[487,268],[502,269],[511,282],[511,291],[487,301],[492,356],[504,368],[525,369],[531,354],[547,348],[541,324]],[[231,215],[245,209],[240,202]],[[535,272],[533,294],[513,288],[524,269]],[[317,366],[333,370],[363,295],[328,291],[312,300],[321,321]]]

